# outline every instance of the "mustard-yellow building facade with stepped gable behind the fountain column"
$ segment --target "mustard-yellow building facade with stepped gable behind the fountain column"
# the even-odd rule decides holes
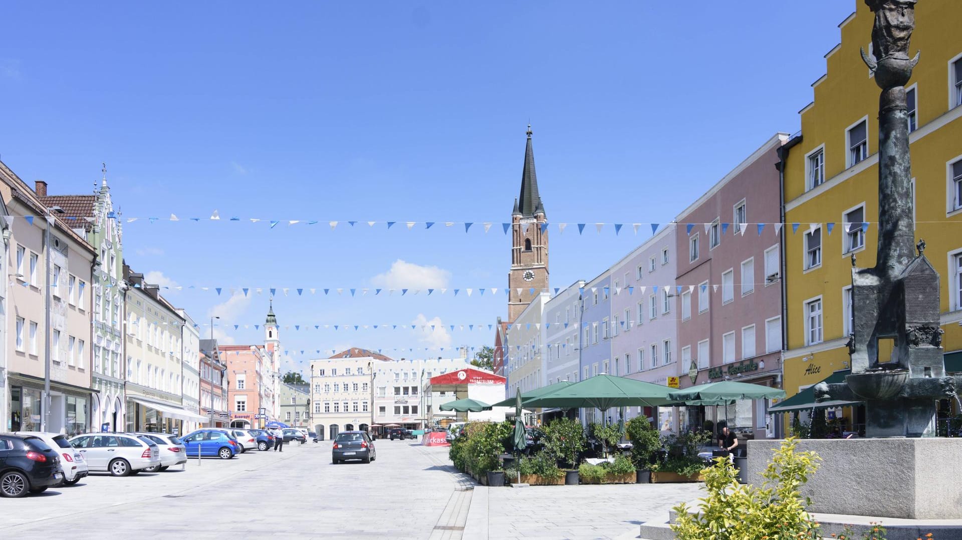
[[[851,257],[875,264],[878,95],[859,48],[871,50],[873,13],[862,0],[839,25],[826,74],[800,111],[800,141],[783,156],[785,207],[784,388],[790,398],[848,369]],[[955,0],[916,6],[906,87],[916,238],[941,275],[947,368],[962,369],[962,9]],[[793,233],[793,229],[797,230]],[[880,354],[881,356],[881,354]],[[847,415],[848,416],[848,415]],[[848,419],[851,422],[852,419]]]

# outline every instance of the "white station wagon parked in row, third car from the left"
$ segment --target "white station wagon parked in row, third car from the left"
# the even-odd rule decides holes
[[[157,443],[130,433],[88,433],[70,439],[80,450],[90,471],[105,471],[113,476],[136,475],[161,464]]]

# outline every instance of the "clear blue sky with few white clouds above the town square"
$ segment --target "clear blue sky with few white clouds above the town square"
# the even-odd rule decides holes
[[[313,325],[505,316],[503,294],[346,290],[504,287],[499,223],[529,120],[550,221],[671,221],[776,131],[797,130],[856,1],[775,5],[8,4],[0,159],[51,194],[89,193],[104,161],[125,217],[180,217],[125,223],[126,260],[168,285],[222,287],[166,296],[198,322],[222,315],[227,340],[262,340],[267,289],[287,287],[275,312],[298,352],[289,367],[348,346],[450,356],[493,333]],[[188,219],[214,210],[222,220]],[[495,225],[465,234],[448,220]],[[591,279],[648,232],[552,230],[551,287]],[[265,292],[231,298],[231,287]]]

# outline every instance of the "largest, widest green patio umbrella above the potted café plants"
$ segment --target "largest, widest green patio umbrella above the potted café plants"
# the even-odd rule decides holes
[[[529,407],[581,408],[606,411],[611,407],[657,407],[670,405],[671,388],[615,375],[595,375],[560,388],[541,398],[528,399]]]

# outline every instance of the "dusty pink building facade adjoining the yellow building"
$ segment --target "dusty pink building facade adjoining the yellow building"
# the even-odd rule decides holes
[[[678,361],[682,388],[737,380],[781,387],[782,294],[779,133],[675,221]],[[769,402],[687,407],[682,427],[727,420],[754,438],[774,435]],[[727,416],[727,418],[725,418]]]

